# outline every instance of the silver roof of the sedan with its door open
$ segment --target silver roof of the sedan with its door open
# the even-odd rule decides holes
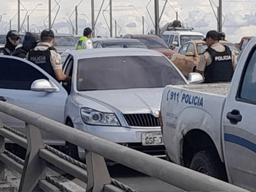
[[[162,53],[143,48],[108,48],[108,49],[83,49],[68,50],[62,54],[72,54],[77,59],[94,58],[94,57],[111,57],[111,56],[163,56]]]

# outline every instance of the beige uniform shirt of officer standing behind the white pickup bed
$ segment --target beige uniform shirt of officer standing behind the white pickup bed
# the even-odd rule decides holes
[[[220,43],[212,44],[211,48],[217,52],[225,51],[225,47]],[[235,70],[237,61],[235,58],[235,53],[233,51],[231,51],[231,59],[233,64],[233,70]],[[205,52],[203,55],[200,56],[196,69],[199,71],[204,71],[205,67],[210,65],[211,63],[212,63],[212,56],[210,55],[209,52]]]

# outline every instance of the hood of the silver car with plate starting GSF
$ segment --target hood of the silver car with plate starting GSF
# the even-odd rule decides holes
[[[150,113],[160,109],[164,88],[81,91],[78,95],[123,114]]]

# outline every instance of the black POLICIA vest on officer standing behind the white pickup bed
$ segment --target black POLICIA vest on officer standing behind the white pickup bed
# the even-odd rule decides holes
[[[205,50],[212,56],[212,63],[204,69],[205,83],[231,81],[233,76],[231,51],[228,46],[224,46],[226,48],[224,52],[217,52],[212,48]]]

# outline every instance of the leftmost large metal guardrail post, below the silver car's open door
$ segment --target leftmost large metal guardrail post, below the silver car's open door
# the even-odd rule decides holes
[[[39,157],[38,151],[44,148],[44,142],[37,127],[26,123],[26,132],[28,148],[19,191],[41,191],[38,181],[46,178],[46,162]]]

